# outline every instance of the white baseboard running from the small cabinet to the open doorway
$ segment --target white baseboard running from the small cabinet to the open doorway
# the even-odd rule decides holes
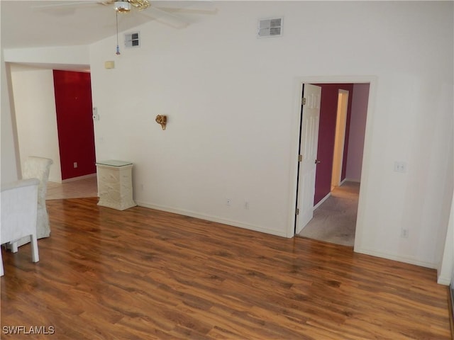
[[[243,222],[238,222],[234,220],[227,220],[222,217],[216,217],[216,216],[211,216],[211,215],[205,215],[205,214],[200,214],[199,212],[194,212],[191,210],[183,210],[183,209],[177,209],[177,208],[171,208],[171,207],[165,207],[163,205],[154,205],[150,203],[145,203],[142,201],[135,200],[135,203],[137,203],[138,206],[143,207],[143,208],[150,208],[150,209],[155,209],[155,210],[161,210],[161,211],[166,211],[166,212],[172,212],[174,214],[178,215],[184,215],[184,216],[189,216],[189,217],[195,217],[199,218],[201,220],[206,220],[206,221],[211,221],[211,222],[216,222],[216,223],[222,223],[223,225],[230,225],[232,227],[240,227],[243,229],[249,229],[253,230],[255,232],[263,232],[265,234],[272,234],[275,236],[280,236],[280,237],[286,237],[286,234],[280,230],[273,230],[273,229],[265,229],[262,227],[258,227],[257,225],[249,225]]]

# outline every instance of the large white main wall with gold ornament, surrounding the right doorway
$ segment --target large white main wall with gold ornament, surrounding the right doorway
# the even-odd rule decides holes
[[[355,249],[436,268],[453,185],[453,3],[216,5],[185,30],[141,26],[141,47],[119,57],[115,37],[91,46],[97,159],[134,162],[140,205],[291,236],[294,79],[372,75]],[[282,15],[282,38],[255,38],[258,18]]]

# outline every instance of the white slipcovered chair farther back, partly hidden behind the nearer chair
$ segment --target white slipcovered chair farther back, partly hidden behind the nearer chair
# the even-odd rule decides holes
[[[38,223],[36,225],[36,236],[38,239],[50,236],[49,215],[45,205],[45,196],[48,191],[49,171],[52,163],[52,159],[31,156],[26,159],[22,167],[22,179],[38,179],[40,181],[38,186]],[[15,253],[18,246],[28,242],[30,242],[28,237],[24,237],[8,247]]]

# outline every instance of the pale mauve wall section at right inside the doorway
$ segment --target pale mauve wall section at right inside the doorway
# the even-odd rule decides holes
[[[369,87],[369,84],[353,85],[347,169],[345,171],[345,177],[349,181],[359,182],[361,180],[362,150],[364,149]]]

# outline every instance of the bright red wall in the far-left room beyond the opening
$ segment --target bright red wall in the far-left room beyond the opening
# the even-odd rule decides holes
[[[90,74],[54,70],[62,180],[96,173]],[[74,168],[77,162],[77,168]]]

